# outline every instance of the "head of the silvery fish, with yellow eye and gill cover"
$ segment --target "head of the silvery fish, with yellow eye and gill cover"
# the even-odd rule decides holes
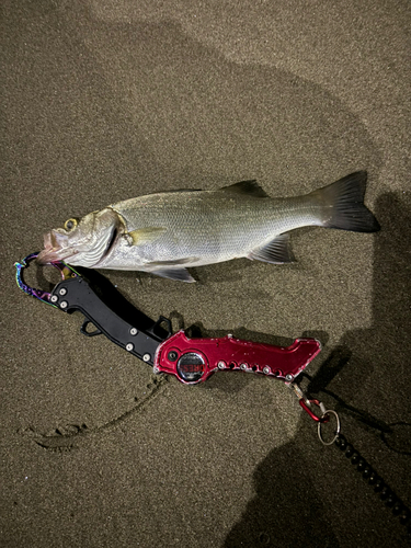
[[[70,218],[62,228],[44,236],[39,264],[65,261],[73,266],[92,269],[104,259],[123,232],[123,221],[110,207],[93,212],[81,219]]]

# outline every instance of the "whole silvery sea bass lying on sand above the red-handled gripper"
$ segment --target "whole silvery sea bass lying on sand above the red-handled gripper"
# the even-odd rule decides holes
[[[255,181],[217,191],[174,191],[119,202],[45,235],[37,261],[151,272],[194,282],[187,267],[248,258],[293,261],[289,230],[379,229],[364,205],[367,173],[352,173],[295,197],[270,197]]]

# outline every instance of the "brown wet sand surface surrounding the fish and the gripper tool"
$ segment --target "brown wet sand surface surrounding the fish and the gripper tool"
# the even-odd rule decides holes
[[[296,263],[196,284],[102,274],[174,330],[318,338],[301,386],[411,506],[410,19],[404,0],[3,2],[1,546],[406,546],[283,383],[155,376],[26,297],[13,263],[128,197],[248,179],[298,195],[367,170],[378,233],[301,229]]]

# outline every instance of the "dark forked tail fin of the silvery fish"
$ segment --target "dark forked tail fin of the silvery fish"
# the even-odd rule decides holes
[[[321,204],[321,226],[354,232],[376,232],[378,220],[364,204],[367,172],[356,171],[309,194]]]

